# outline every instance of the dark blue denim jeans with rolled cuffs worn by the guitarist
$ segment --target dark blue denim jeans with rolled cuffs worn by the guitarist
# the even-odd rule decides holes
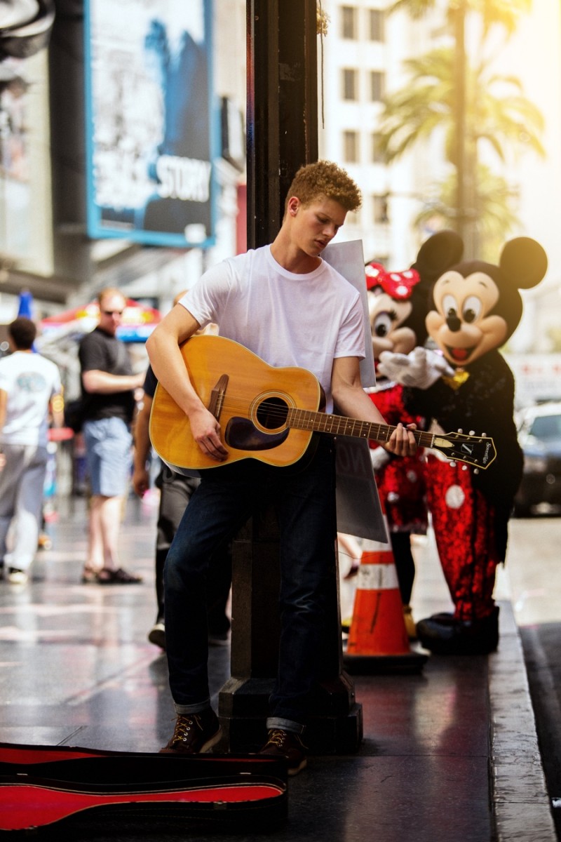
[[[304,459],[297,472],[254,460],[204,472],[166,561],[166,651],[177,713],[209,705],[204,599],[209,557],[256,507],[273,504],[280,530],[281,634],[271,707],[275,719],[305,724],[325,630],[325,593],[335,569],[331,438],[321,436],[313,458]]]

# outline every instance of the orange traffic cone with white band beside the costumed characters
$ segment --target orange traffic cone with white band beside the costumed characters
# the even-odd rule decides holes
[[[365,540],[343,661],[349,672],[412,672],[427,655],[411,649],[391,544]]]

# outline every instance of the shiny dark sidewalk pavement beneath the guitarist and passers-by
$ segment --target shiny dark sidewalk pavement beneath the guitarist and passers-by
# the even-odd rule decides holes
[[[27,586],[0,584],[0,741],[157,751],[173,726],[167,664],[146,640],[156,616],[156,496],[128,501],[121,562],[144,584],[82,585],[84,501],[63,499]],[[450,601],[431,538],[414,546],[416,619]],[[347,561],[341,558],[343,572]],[[341,613],[352,605],[341,580]],[[260,834],[278,842],[554,842],[521,642],[499,580],[500,646],[488,657],[431,656],[419,674],[353,678],[363,705],[357,754],[314,756],[288,785],[288,820]],[[217,707],[229,647],[210,651]],[[230,835],[159,825],[142,839]],[[88,834],[90,842],[138,837]],[[74,842],[79,842],[75,839]]]

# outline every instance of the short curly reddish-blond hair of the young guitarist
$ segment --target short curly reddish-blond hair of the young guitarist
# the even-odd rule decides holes
[[[288,200],[296,196],[303,205],[310,205],[321,196],[338,202],[345,210],[357,210],[362,196],[352,178],[331,161],[315,161],[300,167],[288,188]]]

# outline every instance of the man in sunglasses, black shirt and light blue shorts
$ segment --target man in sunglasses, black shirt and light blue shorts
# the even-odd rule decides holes
[[[98,327],[82,339],[78,352],[82,432],[92,493],[82,582],[136,584],[141,578],[119,565],[117,544],[130,482],[135,389],[141,388],[144,372],[133,373],[128,350],[116,335],[126,304],[122,292],[101,290],[98,302]]]

